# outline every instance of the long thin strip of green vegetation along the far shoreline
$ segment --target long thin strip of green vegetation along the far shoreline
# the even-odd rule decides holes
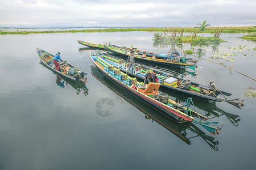
[[[5,29],[5,28],[3,28]],[[8,28],[6,28],[8,29]],[[15,28],[21,29],[21,28]],[[26,28],[34,29],[34,28]],[[36,29],[36,28],[35,28]],[[30,33],[66,33],[66,32],[130,32],[130,31],[147,31],[147,32],[166,32],[175,29],[183,29],[183,32],[197,32],[197,33],[216,33],[216,30],[222,30],[222,33],[255,33],[256,26],[254,27],[209,27],[204,31],[200,31],[199,27],[194,28],[95,28],[95,29],[71,29],[71,30],[58,30],[58,31],[6,31],[0,30],[0,35],[17,35],[17,34],[30,34]]]

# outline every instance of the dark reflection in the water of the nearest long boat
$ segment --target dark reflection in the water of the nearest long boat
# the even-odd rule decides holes
[[[177,124],[174,121],[170,121],[170,119],[163,116],[163,114],[161,114],[158,110],[148,108],[146,104],[141,103],[141,100],[130,96],[127,92],[123,91],[122,88],[115,86],[111,80],[105,78],[105,76],[98,71],[97,67],[91,66],[91,73],[97,80],[112,90],[114,94],[117,95],[117,99],[121,96],[122,99],[125,99],[128,103],[134,105],[134,107],[144,113],[144,118],[147,120],[152,120],[152,122],[157,122],[159,125],[163,126],[188,145],[191,145],[191,139],[201,137],[205,142],[208,143],[210,147],[212,147],[214,150],[218,150],[218,141],[214,141],[214,137],[206,135],[203,131],[197,128],[197,126],[191,123]],[[138,103],[140,104],[138,105]]]

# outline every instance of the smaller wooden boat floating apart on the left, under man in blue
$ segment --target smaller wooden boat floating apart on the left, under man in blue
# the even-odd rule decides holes
[[[52,54],[40,48],[36,48],[36,51],[42,63],[54,73],[63,75],[66,78],[69,78],[75,82],[85,82],[84,76],[86,75],[86,73],[84,73],[84,71],[81,71],[67,61],[59,62],[61,71],[58,71],[56,70],[55,64],[53,63],[54,56]]]

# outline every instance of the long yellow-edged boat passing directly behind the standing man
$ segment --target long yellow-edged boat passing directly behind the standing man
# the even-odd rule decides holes
[[[104,44],[104,48],[114,54],[119,54],[121,56],[125,56],[128,57],[130,56],[130,50],[126,50],[123,49],[121,47],[117,47],[115,45],[112,44]],[[186,60],[185,61],[181,61],[181,62],[174,62],[171,61],[170,59],[158,59],[158,58],[152,58],[152,57],[147,57],[147,56],[143,56],[140,55],[138,53],[134,54],[135,57],[135,61],[141,61],[141,62],[146,62],[146,63],[153,63],[153,64],[158,64],[158,65],[167,65],[167,66],[171,66],[171,67],[176,67],[179,69],[185,69],[185,68],[189,68],[189,69],[193,69],[195,70],[197,68],[196,64],[191,64],[188,63]]]

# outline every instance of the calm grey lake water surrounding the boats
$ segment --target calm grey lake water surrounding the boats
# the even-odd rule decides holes
[[[115,87],[94,67],[89,50],[77,42],[133,45],[158,54],[170,50],[171,46],[154,46],[152,36],[153,32],[0,36],[0,169],[253,169],[255,98],[245,96],[241,109],[225,102],[195,100],[199,113],[224,123],[214,136],[199,126],[195,130],[191,124],[176,124]],[[240,36],[222,34],[226,42],[195,47],[196,55],[226,66],[234,58],[233,69],[255,79],[255,43],[238,39]],[[62,59],[88,73],[88,95],[77,94],[71,84],[57,86],[56,75],[40,64],[36,47],[52,54],[60,52]],[[184,45],[184,49],[189,47]],[[179,51],[179,46],[175,48]],[[197,60],[196,76],[154,67],[204,85],[214,81],[221,90],[232,93],[229,99],[241,98],[248,88],[256,88],[255,81],[246,76]],[[105,102],[112,105],[111,112],[99,116],[100,109],[107,109]]]

